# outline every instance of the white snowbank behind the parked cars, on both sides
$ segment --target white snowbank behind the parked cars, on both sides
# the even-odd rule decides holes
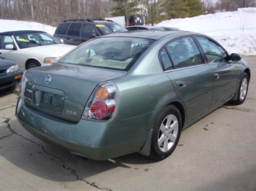
[[[156,25],[207,34],[220,42],[229,53],[256,55],[256,8],[170,19]],[[37,22],[0,19],[0,32],[23,29],[43,30],[53,34],[56,27]]]

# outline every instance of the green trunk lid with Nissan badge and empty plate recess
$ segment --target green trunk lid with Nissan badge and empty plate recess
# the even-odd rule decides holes
[[[78,122],[94,88],[103,81],[126,74],[120,70],[79,65],[37,67],[27,70],[25,103],[50,116]]]

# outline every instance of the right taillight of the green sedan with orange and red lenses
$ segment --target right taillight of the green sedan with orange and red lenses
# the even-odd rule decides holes
[[[105,82],[95,88],[81,118],[108,120],[115,116],[118,88],[115,83]]]

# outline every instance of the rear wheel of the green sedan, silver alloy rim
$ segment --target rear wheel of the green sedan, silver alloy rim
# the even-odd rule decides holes
[[[175,106],[166,106],[154,124],[150,157],[158,161],[169,157],[177,146],[181,130],[180,111]]]

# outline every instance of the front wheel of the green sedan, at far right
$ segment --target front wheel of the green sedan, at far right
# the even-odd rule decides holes
[[[244,103],[245,98],[248,92],[248,85],[249,85],[249,77],[247,73],[242,75],[242,80],[239,83],[239,88],[237,90],[237,100],[231,101],[232,103],[239,105]]]

